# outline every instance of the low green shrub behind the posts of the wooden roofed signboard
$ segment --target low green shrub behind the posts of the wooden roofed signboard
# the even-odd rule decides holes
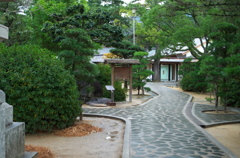
[[[114,101],[125,101],[126,100],[126,90],[122,88],[122,82],[114,82]],[[111,98],[111,92],[103,89],[103,96],[106,98]]]

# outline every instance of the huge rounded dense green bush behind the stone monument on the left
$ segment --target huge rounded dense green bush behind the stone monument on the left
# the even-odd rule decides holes
[[[25,122],[29,133],[66,128],[81,111],[74,77],[48,50],[0,44],[0,76],[14,121]]]

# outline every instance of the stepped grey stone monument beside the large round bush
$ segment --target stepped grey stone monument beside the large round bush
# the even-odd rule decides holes
[[[25,152],[25,123],[13,122],[13,107],[0,90],[0,158],[37,158],[36,152]]]

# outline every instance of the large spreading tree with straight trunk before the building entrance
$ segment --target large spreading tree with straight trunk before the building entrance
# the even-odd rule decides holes
[[[209,2],[209,3],[208,3]],[[155,40],[158,40],[156,56],[154,58],[154,81],[160,81],[159,60],[164,54],[176,51],[190,51],[192,56],[200,58],[208,54],[210,49],[209,34],[217,23],[227,20],[227,16],[213,16],[213,10],[220,10],[222,2],[201,0],[180,1],[147,1],[150,7],[141,21],[147,28],[147,33],[155,29]],[[214,4],[216,8],[207,5]],[[149,29],[148,29],[149,28]],[[160,33],[161,32],[161,33]],[[198,40],[202,50],[196,48]],[[153,40],[154,41],[154,40]],[[156,76],[156,77],[155,77]]]

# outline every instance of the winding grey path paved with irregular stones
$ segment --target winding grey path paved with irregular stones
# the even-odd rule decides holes
[[[149,87],[159,96],[143,105],[126,108],[85,108],[85,113],[131,119],[132,158],[228,157],[191,124],[182,110],[190,96],[157,83]]]

